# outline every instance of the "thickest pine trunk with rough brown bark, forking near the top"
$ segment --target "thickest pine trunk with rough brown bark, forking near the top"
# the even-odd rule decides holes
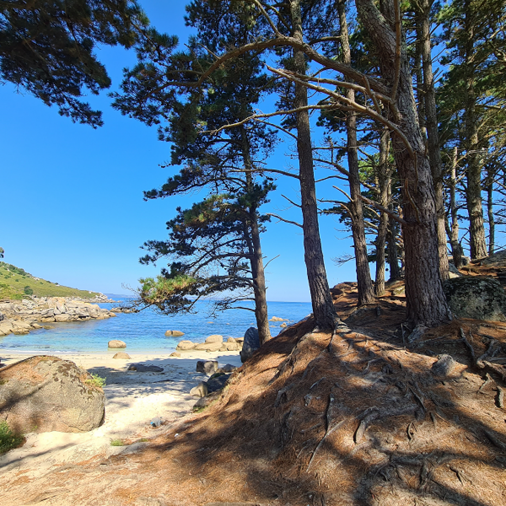
[[[435,326],[451,320],[439,276],[436,197],[431,167],[416,114],[408,57],[397,53],[394,3],[385,0],[381,13],[373,0],[355,1],[359,18],[379,54],[383,77],[396,90],[398,116],[389,112],[410,144],[392,133],[392,146],[403,190],[403,226],[407,318],[411,325]],[[384,15],[385,14],[385,15]],[[387,19],[388,18],[388,19]],[[398,79],[398,80],[397,80]],[[397,82],[396,82],[397,80]]]

